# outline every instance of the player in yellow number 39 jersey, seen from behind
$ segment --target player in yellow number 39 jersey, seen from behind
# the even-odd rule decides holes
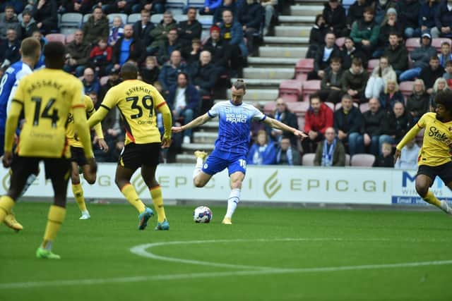
[[[157,211],[155,230],[169,230],[163,208],[162,189],[155,180],[155,169],[159,163],[160,148],[171,145],[171,111],[157,89],[137,80],[137,77],[138,68],[133,63],[125,63],[121,67],[124,82],[108,90],[99,109],[88,120],[88,125],[93,127],[102,121],[114,106],[119,109],[126,128],[126,141],[119,158],[115,182],[127,201],[138,210],[138,229],[143,230],[148,219],[153,216],[153,211],[145,207],[130,183],[133,173],[141,167],[141,176],[150,190]],[[157,128],[155,110],[163,116],[165,133],[162,139]]]

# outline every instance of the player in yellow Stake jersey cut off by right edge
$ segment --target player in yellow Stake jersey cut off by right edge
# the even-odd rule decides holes
[[[425,202],[439,207],[447,214],[452,214],[446,201],[437,199],[429,190],[436,176],[452,189],[452,160],[449,149],[452,145],[452,91],[447,90],[436,94],[436,113],[425,113],[417,124],[403,137],[396,149],[394,159],[400,157],[402,148],[419,131],[424,128],[424,141],[417,164],[416,191]]]

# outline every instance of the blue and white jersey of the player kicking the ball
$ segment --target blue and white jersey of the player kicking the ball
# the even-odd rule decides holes
[[[218,102],[209,111],[210,118],[220,120],[215,150],[234,154],[248,153],[251,121],[263,121],[266,115],[251,104],[236,106],[232,102]]]

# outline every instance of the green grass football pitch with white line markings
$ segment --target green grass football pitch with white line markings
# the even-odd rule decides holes
[[[20,203],[0,227],[0,300],[452,300],[452,219],[439,210],[225,207],[196,224],[138,231],[126,204],[68,204],[54,252],[36,259],[49,204]]]

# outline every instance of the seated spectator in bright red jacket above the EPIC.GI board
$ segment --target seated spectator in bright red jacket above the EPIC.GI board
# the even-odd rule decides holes
[[[304,153],[316,152],[317,142],[323,140],[326,129],[333,126],[333,110],[321,102],[319,94],[311,94],[309,104],[304,117],[304,133],[309,136],[302,142]]]

